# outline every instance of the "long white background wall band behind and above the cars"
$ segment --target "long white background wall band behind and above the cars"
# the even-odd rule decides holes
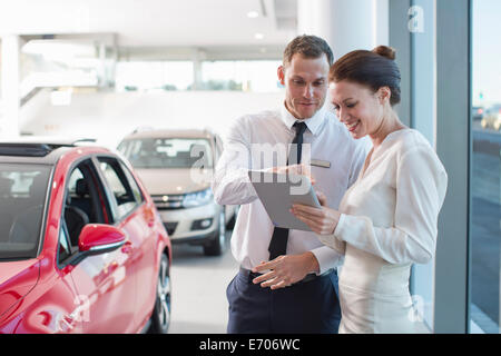
[[[276,108],[284,93],[239,91],[79,92],[69,106],[53,106],[41,91],[21,110],[21,132],[37,136],[92,137],[115,147],[140,126],[212,128],[226,134],[237,117]]]

